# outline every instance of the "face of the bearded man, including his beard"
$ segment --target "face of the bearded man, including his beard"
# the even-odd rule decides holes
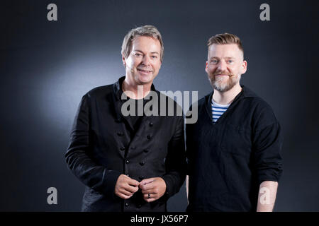
[[[226,92],[239,83],[240,76],[247,71],[247,62],[237,44],[212,44],[205,71],[213,88]]]

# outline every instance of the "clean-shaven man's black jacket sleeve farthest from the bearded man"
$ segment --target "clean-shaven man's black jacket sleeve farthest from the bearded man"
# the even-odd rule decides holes
[[[86,94],[77,109],[65,160],[69,169],[83,184],[106,196],[114,197],[114,188],[120,172],[108,170],[91,159],[90,141],[89,95]]]

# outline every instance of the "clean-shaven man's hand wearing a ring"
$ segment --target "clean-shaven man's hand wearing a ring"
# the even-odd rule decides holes
[[[164,195],[166,183],[162,177],[143,179],[142,182],[140,182],[140,189],[142,190],[144,200],[150,203]]]

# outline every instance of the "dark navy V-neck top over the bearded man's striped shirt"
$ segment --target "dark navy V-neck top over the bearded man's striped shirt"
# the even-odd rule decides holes
[[[213,124],[211,97],[198,101],[186,124],[189,211],[255,211],[259,185],[278,182],[281,128],[272,108],[248,88]]]

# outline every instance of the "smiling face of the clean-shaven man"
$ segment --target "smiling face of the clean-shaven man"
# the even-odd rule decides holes
[[[135,85],[152,83],[162,65],[159,40],[147,36],[135,37],[128,58],[122,57],[126,76]]]

